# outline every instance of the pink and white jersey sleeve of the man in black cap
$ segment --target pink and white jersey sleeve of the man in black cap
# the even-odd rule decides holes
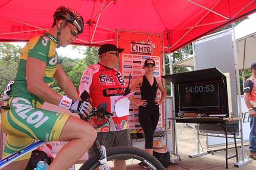
[[[79,95],[80,98],[85,101],[90,98],[90,86],[92,84],[93,79],[93,69],[89,66],[84,70],[82,78],[79,84]]]

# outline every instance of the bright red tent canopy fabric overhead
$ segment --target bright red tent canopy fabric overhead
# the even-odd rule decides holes
[[[0,41],[27,41],[45,32],[61,5],[87,22],[76,44],[116,43],[116,31],[129,30],[163,34],[171,52],[256,9],[254,0],[1,0]]]

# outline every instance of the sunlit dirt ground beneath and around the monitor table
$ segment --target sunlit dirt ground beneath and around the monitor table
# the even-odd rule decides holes
[[[166,169],[172,170],[194,170],[194,169],[211,169],[219,170],[225,168],[225,151],[215,152],[214,155],[208,154],[197,158],[189,158],[188,155],[191,155],[195,152],[195,147],[197,144],[197,131],[190,126],[185,126],[185,124],[177,124],[177,139],[178,139],[178,152],[181,158],[180,161],[177,161],[176,165],[170,165]],[[206,137],[200,136],[201,143],[203,147],[206,148]],[[240,145],[240,143],[238,144]],[[245,143],[248,145],[248,143]],[[232,147],[230,145],[229,147]],[[224,147],[211,148],[212,150],[221,149]],[[238,150],[240,153],[240,149]],[[245,147],[245,152],[249,155],[248,146]],[[234,150],[229,150],[228,155],[234,155]],[[242,166],[240,168],[234,167],[236,163],[236,158],[228,160],[228,169],[256,169],[256,161],[252,160],[251,163]],[[76,164],[76,170],[79,169],[81,164]],[[141,169],[141,168],[134,168]]]

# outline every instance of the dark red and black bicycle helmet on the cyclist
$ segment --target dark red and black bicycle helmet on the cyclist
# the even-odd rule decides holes
[[[72,23],[77,28],[78,34],[83,32],[83,18],[82,16],[71,8],[67,8],[65,6],[61,6],[56,9],[53,15],[54,21],[56,19],[63,19],[63,23],[58,28],[57,35],[60,35],[61,29],[65,26],[66,21]]]

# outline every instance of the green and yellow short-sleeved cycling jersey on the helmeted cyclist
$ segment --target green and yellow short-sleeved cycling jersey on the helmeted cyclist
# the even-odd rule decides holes
[[[26,63],[28,57],[44,61],[46,63],[44,81],[49,87],[51,87],[53,84],[53,75],[58,64],[58,56],[56,53],[56,47],[58,44],[59,41],[49,33],[45,33],[41,36],[35,36],[29,40],[22,49],[16,78],[14,79],[14,84],[9,92],[9,96],[36,100],[41,104],[44,103],[44,101],[37,98],[37,96],[31,94],[27,90]]]

